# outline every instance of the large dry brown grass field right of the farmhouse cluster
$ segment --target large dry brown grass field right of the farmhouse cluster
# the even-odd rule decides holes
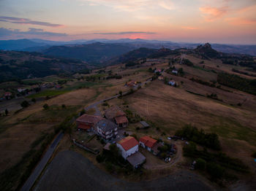
[[[195,82],[184,80],[181,87],[170,87],[156,80],[124,100],[129,103],[129,109],[157,124],[167,135],[173,135],[188,123],[203,128],[206,132],[217,133],[225,152],[233,157],[240,157],[249,164],[249,160],[252,160],[250,155],[256,149],[255,96],[236,90],[234,93],[222,90],[222,94],[219,92],[218,95],[223,96],[226,102],[223,103],[188,93],[188,87],[189,90],[202,94],[213,91],[208,90],[207,86],[189,83]],[[238,103],[241,98],[246,98],[246,105],[240,107],[228,104]],[[157,130],[147,130],[151,136],[159,136],[156,132]],[[231,145],[234,145],[232,149]]]

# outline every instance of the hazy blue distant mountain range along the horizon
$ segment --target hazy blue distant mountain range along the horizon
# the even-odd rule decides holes
[[[59,55],[60,53],[56,52],[56,50],[60,49],[60,46],[70,47],[70,45],[72,45],[72,47],[75,47],[75,45],[79,45],[79,44],[86,45],[86,44],[94,44],[97,42],[100,42],[103,44],[115,44],[115,46],[117,46],[117,44],[120,44],[121,46],[129,47],[127,48],[127,52],[129,52],[129,50],[135,50],[140,47],[147,47],[147,48],[154,48],[154,49],[166,47],[171,50],[174,50],[178,48],[194,49],[198,45],[200,45],[200,43],[170,42],[170,41],[158,41],[158,40],[146,40],[146,39],[116,39],[116,40],[78,39],[78,40],[72,40],[69,42],[49,41],[44,39],[18,39],[18,40],[0,41],[0,50],[23,50],[23,51],[30,51],[30,52],[48,52],[48,54],[51,54],[50,51],[54,50],[53,52],[56,53],[56,55]],[[58,48],[52,48],[54,46],[58,46]],[[121,53],[125,53],[124,47],[121,49],[120,51]],[[256,55],[256,45],[211,44],[211,47],[213,47],[215,50],[220,52]],[[87,52],[83,52],[83,53],[86,54]],[[108,52],[108,56],[111,55],[109,53],[110,52]],[[116,53],[116,55],[118,55],[118,52]],[[74,58],[72,55],[69,55],[69,56],[64,55],[64,57],[66,58],[70,56],[71,58]],[[82,57],[83,56],[79,55],[79,58],[83,59]],[[100,60],[100,59],[97,59],[97,60]]]

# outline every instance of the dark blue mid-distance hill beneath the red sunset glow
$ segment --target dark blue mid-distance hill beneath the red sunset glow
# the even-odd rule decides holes
[[[123,55],[134,48],[127,44],[81,44],[50,47],[42,50],[45,55],[55,55],[63,58],[75,58],[91,64],[100,64],[118,55]]]

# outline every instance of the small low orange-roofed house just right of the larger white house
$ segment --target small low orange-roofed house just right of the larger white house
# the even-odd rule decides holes
[[[152,139],[149,136],[143,136],[140,138],[139,144],[141,147],[147,149],[149,152],[152,152],[154,155],[159,153],[159,150],[157,149],[159,144],[157,143],[156,139]]]

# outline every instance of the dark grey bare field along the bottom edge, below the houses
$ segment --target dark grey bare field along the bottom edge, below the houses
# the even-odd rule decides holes
[[[60,152],[50,163],[35,190],[213,190],[189,171],[153,181],[127,182],[94,166],[76,152]]]

